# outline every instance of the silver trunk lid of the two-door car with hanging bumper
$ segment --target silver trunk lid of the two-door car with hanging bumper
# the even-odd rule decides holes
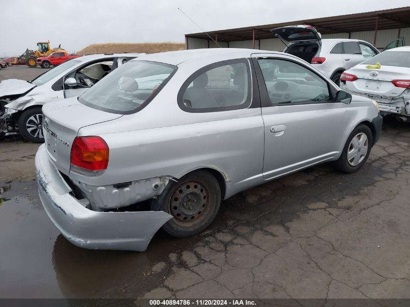
[[[68,176],[71,145],[78,130],[121,117],[87,107],[72,97],[43,106],[43,130],[47,153],[59,171]]]

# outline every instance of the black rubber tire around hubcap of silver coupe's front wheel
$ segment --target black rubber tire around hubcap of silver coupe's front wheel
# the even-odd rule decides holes
[[[354,164],[354,160],[352,161],[348,161],[348,153],[352,152],[354,153],[355,147],[352,143],[353,138],[357,137],[360,134],[365,134],[367,137],[367,152],[365,155],[361,156],[359,158],[359,163],[357,165],[352,165],[351,163]],[[354,173],[357,172],[364,163],[366,163],[367,158],[369,157],[370,154],[370,150],[372,148],[373,145],[373,135],[372,135],[372,131],[370,131],[370,128],[367,127],[366,125],[360,124],[358,125],[353,131],[352,133],[350,133],[349,137],[347,138],[346,144],[344,145],[343,151],[342,151],[342,155],[340,156],[340,158],[334,162],[334,167],[335,169],[337,169],[340,172],[343,173]],[[361,146],[363,147],[363,146]],[[364,148],[364,147],[363,147]],[[356,149],[356,151],[360,151],[359,149]],[[354,159],[354,158],[352,158]]]

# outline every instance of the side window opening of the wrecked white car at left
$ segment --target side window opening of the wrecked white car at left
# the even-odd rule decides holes
[[[91,87],[110,73],[113,63],[114,59],[91,63],[73,71],[66,78],[75,78],[77,87]]]

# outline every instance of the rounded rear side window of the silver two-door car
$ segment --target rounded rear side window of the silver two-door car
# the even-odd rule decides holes
[[[246,59],[223,61],[199,69],[182,85],[178,104],[187,112],[218,112],[246,108],[251,78]]]

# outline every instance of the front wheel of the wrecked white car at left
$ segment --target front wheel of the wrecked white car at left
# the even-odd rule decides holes
[[[20,115],[18,119],[18,130],[27,141],[43,143],[42,123],[43,113],[41,113],[41,107],[30,108]],[[29,131],[29,129],[32,130]]]

